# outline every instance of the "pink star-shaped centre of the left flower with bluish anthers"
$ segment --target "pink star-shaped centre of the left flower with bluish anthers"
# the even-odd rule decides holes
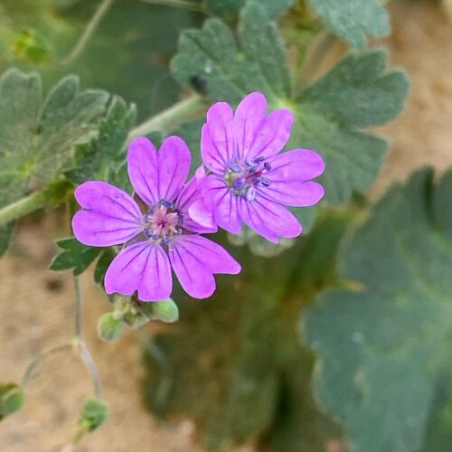
[[[146,239],[160,240],[167,245],[174,235],[182,234],[183,215],[174,208],[174,202],[160,200],[143,217]]]

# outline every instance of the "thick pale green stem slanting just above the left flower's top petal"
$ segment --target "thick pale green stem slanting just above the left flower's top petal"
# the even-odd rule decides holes
[[[174,104],[173,107],[166,108],[161,113],[133,128],[128,134],[127,141],[130,142],[136,137],[143,137],[155,130],[167,132],[175,125],[184,122],[187,117],[201,112],[202,108],[203,102],[201,96],[194,95],[191,98],[181,100]]]

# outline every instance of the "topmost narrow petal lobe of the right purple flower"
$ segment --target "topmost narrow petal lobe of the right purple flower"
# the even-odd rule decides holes
[[[239,158],[250,153],[262,121],[267,115],[267,99],[260,92],[252,92],[241,100],[234,114],[236,148]]]

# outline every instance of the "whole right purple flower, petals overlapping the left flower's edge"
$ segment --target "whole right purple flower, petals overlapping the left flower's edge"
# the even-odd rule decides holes
[[[209,173],[198,177],[203,200],[221,228],[239,233],[245,223],[275,243],[278,237],[301,233],[300,223],[284,205],[319,202],[324,189],[311,179],[322,174],[325,165],[320,155],[306,149],[278,154],[292,123],[292,113],[284,108],[267,116],[267,100],[259,92],[243,99],[235,114],[224,102],[209,109],[201,138]]]

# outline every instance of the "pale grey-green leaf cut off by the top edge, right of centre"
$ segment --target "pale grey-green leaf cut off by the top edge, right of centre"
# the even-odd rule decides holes
[[[354,47],[363,47],[366,33],[375,37],[391,32],[389,15],[380,0],[308,0],[326,26]]]

